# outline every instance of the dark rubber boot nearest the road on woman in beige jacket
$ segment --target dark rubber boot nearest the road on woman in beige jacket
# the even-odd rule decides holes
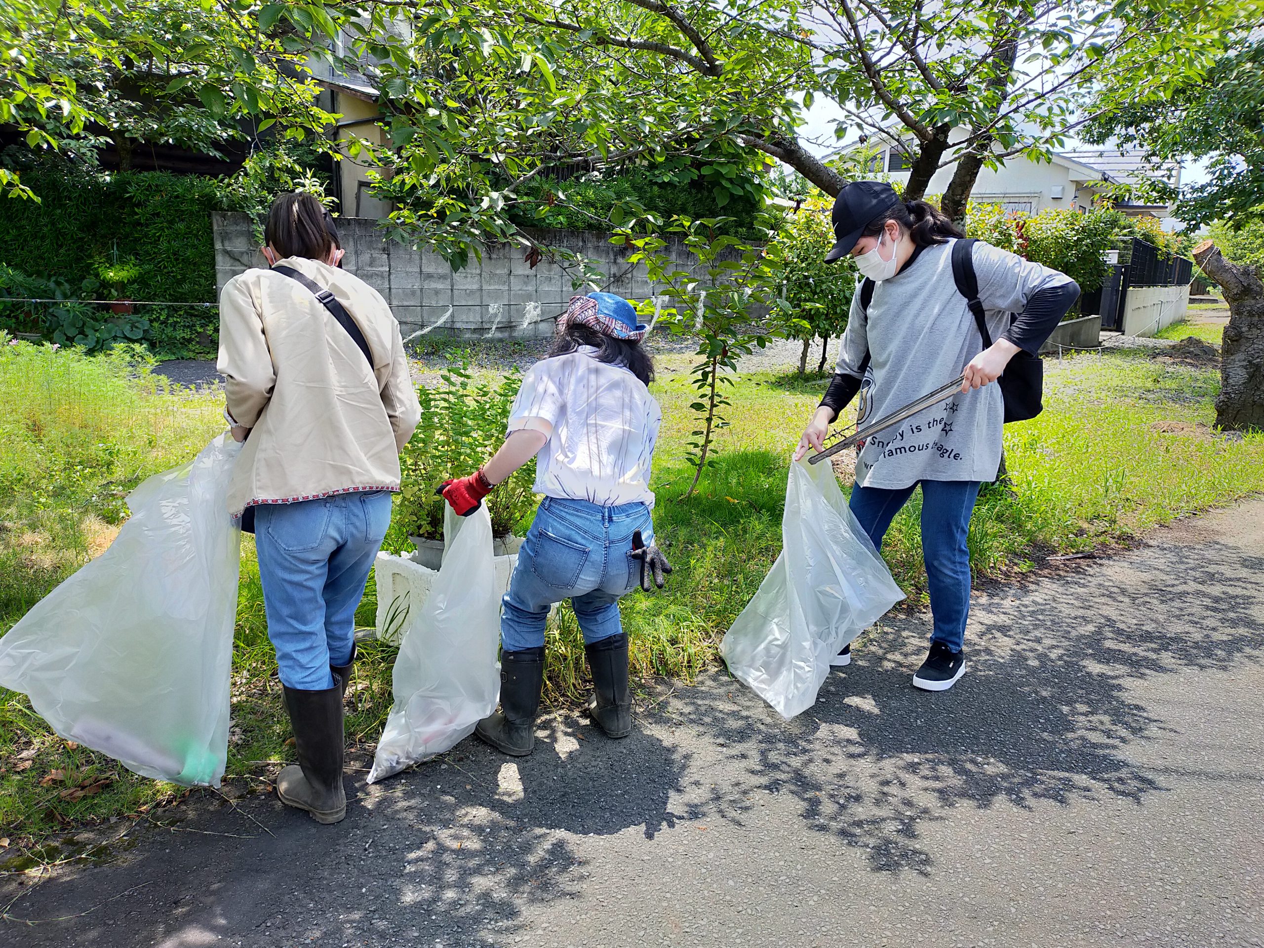
[[[298,763],[291,763],[277,777],[277,796],[300,810],[307,810],[317,823],[337,823],[346,815],[343,789],[343,689],[320,691],[284,688],[286,710],[295,729]]]

